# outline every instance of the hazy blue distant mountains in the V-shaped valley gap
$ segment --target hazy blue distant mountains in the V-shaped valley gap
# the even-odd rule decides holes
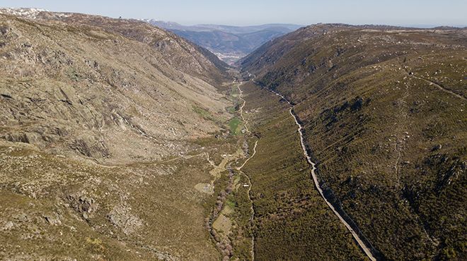
[[[195,44],[209,49],[227,63],[234,63],[254,51],[265,42],[285,35],[301,27],[291,24],[267,24],[252,26],[191,25],[146,19],[147,23],[170,30]]]

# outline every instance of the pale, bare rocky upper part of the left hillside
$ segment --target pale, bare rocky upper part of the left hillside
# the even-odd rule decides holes
[[[132,21],[58,17],[66,22],[2,16],[5,140],[121,162],[157,159],[177,151],[180,140],[219,130],[193,109],[226,117],[226,103],[211,85],[224,72],[199,47],[146,23],[134,22],[150,30],[138,38],[139,30],[128,29]],[[158,149],[149,146],[154,142]]]

